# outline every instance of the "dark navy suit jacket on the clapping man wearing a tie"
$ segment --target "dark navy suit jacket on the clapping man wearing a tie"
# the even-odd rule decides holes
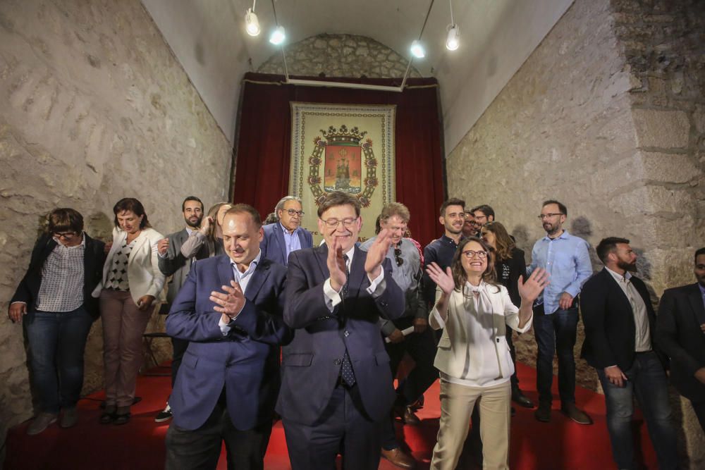
[[[313,424],[331,399],[345,348],[367,414],[379,420],[394,400],[389,357],[379,330],[379,316],[396,319],[404,313],[404,294],[384,260],[384,292],[372,297],[364,272],[367,252],[355,247],[348,295],[329,311],[323,285],[330,274],[328,247],[301,249],[289,257],[284,321],[295,328],[294,340],[283,348],[282,385],[276,411],[285,419]],[[380,287],[381,288],[381,287]]]

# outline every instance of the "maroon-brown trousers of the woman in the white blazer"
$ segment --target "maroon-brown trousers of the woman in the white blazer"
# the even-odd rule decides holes
[[[142,333],[152,309],[140,311],[130,292],[103,289],[100,318],[103,321],[105,402],[129,407],[135,399],[137,372],[142,366]]]

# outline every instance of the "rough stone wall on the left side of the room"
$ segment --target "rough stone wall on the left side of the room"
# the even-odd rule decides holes
[[[0,2],[2,311],[42,214],[71,206],[106,240],[113,204],[132,196],[154,228],[171,233],[183,225],[183,197],[226,198],[230,165],[231,144],[139,0]],[[101,331],[97,321],[84,392],[102,387]],[[170,354],[162,343],[160,359]],[[0,438],[31,416],[23,328],[5,316]]]

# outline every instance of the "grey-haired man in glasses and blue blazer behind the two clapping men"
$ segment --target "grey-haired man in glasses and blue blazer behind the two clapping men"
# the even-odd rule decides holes
[[[262,257],[286,266],[289,254],[313,246],[313,236],[301,226],[304,211],[301,199],[285,196],[274,207],[276,222],[264,225],[264,238],[259,244]]]

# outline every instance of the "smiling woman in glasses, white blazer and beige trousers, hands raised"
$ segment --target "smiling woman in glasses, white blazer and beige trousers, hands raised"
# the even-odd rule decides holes
[[[514,365],[506,328],[524,333],[532,324],[532,304],[548,284],[537,270],[519,279],[521,307],[496,283],[494,260],[479,238],[462,240],[451,267],[428,268],[438,288],[429,324],[443,329],[434,365],[441,372],[441,423],[431,469],[453,470],[467,437],[477,400],[484,469],[508,469],[511,386]]]

